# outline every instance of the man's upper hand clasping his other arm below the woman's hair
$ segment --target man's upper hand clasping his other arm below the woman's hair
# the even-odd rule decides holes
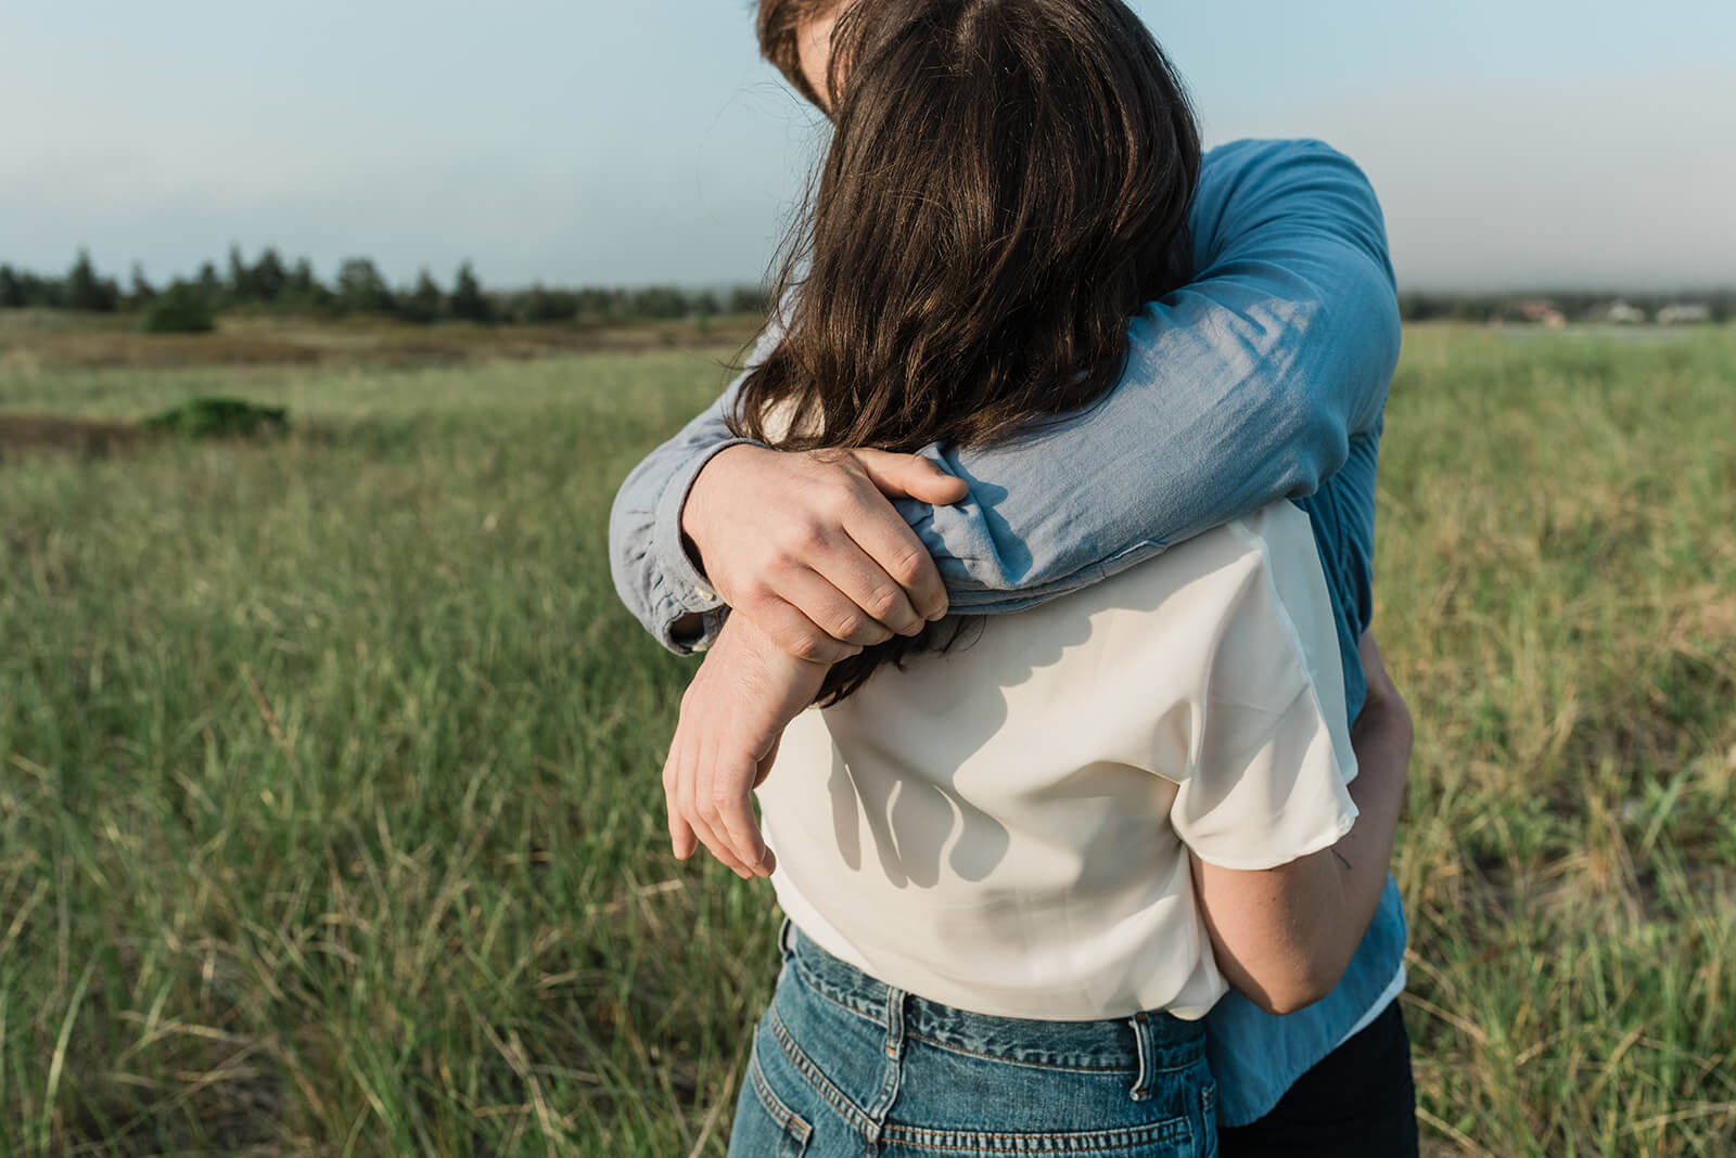
[[[700,472],[681,529],[733,619],[752,619],[793,659],[835,664],[946,614],[934,560],[887,496],[965,494],[918,454],[743,444]]]

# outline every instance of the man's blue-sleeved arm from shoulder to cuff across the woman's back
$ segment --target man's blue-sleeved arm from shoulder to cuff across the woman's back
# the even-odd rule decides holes
[[[1134,319],[1115,394],[1014,442],[934,451],[970,501],[901,511],[953,610],[1029,607],[1311,494],[1378,425],[1397,291],[1361,170],[1311,140],[1222,146],[1193,227],[1198,276]]]

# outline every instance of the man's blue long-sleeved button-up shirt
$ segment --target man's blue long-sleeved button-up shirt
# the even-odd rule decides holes
[[[1130,324],[1120,385],[1090,409],[988,447],[925,452],[965,501],[899,503],[955,612],[1031,607],[1207,527],[1292,498],[1309,511],[1338,617],[1345,697],[1366,683],[1373,480],[1399,321],[1380,206],[1344,154],[1312,140],[1241,140],[1207,154],[1191,211],[1194,281]],[[760,338],[762,355],[778,326]],[[609,520],[616,589],[675,652],[705,647],[727,608],[681,543],[700,470],[740,442],[734,385],[621,485]],[[675,624],[698,615],[696,636]],[[1210,1014],[1219,1116],[1241,1125],[1389,990],[1404,915],[1389,881],[1333,993],[1283,1018],[1238,993]]]

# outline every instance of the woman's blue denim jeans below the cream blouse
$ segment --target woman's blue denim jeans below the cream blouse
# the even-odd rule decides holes
[[[941,1005],[785,922],[731,1158],[1210,1158],[1205,1026],[1167,1012],[1024,1021]]]

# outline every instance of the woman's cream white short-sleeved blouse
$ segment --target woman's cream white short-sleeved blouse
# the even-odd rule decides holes
[[[1354,775],[1314,537],[1274,503],[809,709],[759,801],[778,901],[871,976],[1005,1018],[1193,1019],[1227,983],[1187,851],[1328,848]]]

